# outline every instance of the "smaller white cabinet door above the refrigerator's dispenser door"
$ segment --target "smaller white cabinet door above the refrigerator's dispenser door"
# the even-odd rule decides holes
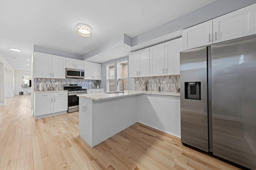
[[[182,50],[212,44],[212,20],[182,31]]]

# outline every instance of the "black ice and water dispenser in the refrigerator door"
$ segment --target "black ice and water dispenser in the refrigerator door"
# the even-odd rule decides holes
[[[185,82],[185,99],[201,100],[201,82]]]

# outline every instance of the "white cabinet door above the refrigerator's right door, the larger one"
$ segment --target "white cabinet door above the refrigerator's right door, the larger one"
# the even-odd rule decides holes
[[[213,43],[256,34],[256,4],[213,19]]]

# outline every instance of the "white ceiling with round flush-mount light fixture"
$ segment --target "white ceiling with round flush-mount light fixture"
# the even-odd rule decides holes
[[[83,54],[113,38],[123,34],[133,38],[214,1],[0,0],[0,53],[16,70],[31,69],[27,59],[31,59],[33,45],[82,59]],[[78,23],[90,25],[92,37],[76,34]],[[97,59],[103,61],[106,59]]]

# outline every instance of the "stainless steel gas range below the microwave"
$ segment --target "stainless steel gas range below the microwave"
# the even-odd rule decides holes
[[[87,89],[78,84],[64,84],[64,90],[68,90],[68,113],[79,111],[79,97],[76,95],[87,94]]]

